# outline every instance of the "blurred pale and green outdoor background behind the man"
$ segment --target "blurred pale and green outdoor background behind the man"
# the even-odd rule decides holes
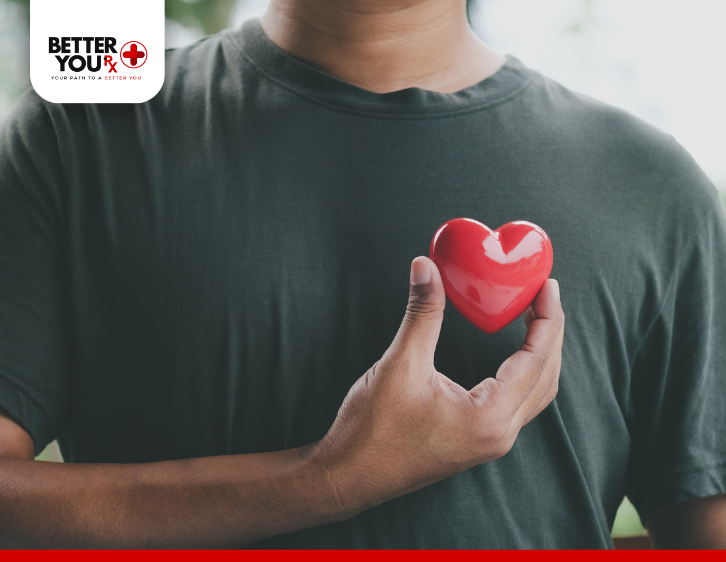
[[[237,27],[267,4],[166,0],[166,45]],[[0,0],[0,122],[30,85],[28,6]],[[726,2],[472,0],[469,14],[496,51],[673,135],[726,199]],[[40,458],[60,460],[60,453],[52,445]],[[642,533],[626,500],[613,535]]]

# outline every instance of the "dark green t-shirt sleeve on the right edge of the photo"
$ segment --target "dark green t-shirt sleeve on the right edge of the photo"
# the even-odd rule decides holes
[[[641,518],[726,492],[726,220],[694,228],[635,357],[628,496]]]

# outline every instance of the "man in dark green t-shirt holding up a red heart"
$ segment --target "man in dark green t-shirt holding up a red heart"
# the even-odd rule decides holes
[[[463,0],[277,0],[146,104],[29,93],[0,182],[3,544],[609,548],[627,492],[726,546],[715,190]],[[460,216],[543,227],[564,306],[442,324],[419,257],[401,323]]]

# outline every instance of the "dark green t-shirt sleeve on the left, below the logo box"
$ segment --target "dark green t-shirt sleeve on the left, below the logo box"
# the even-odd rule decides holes
[[[62,178],[53,120],[28,92],[0,127],[0,406],[36,454],[68,418]]]

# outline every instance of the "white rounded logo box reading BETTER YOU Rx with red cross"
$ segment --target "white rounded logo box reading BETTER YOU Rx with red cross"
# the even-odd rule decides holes
[[[30,81],[53,103],[150,100],[164,84],[164,0],[31,0]]]

